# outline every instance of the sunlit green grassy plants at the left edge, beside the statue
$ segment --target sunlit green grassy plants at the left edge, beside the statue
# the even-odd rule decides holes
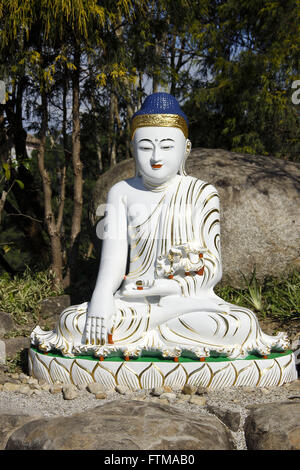
[[[0,310],[10,313],[17,325],[25,325],[30,317],[38,319],[40,301],[62,294],[54,288],[54,277],[49,271],[34,273],[29,269],[11,279],[0,277]]]

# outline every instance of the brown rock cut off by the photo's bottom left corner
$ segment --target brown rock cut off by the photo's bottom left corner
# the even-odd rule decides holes
[[[40,418],[39,414],[22,414],[20,410],[0,411],[0,450],[4,450],[11,434],[29,423]]]

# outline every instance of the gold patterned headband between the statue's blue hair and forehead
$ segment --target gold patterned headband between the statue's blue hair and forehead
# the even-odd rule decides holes
[[[188,126],[185,119],[178,114],[140,114],[131,124],[131,139],[139,127],[178,127],[185,138],[188,137]]]

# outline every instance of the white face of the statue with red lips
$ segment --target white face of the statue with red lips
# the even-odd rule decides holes
[[[159,183],[178,173],[185,158],[187,139],[177,127],[140,127],[132,144],[142,176]]]

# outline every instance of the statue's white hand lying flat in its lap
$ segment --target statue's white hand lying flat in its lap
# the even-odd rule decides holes
[[[176,295],[180,294],[179,284],[172,279],[155,279],[153,281],[138,281],[139,284],[130,283],[124,286],[124,297],[150,297],[152,295]]]

